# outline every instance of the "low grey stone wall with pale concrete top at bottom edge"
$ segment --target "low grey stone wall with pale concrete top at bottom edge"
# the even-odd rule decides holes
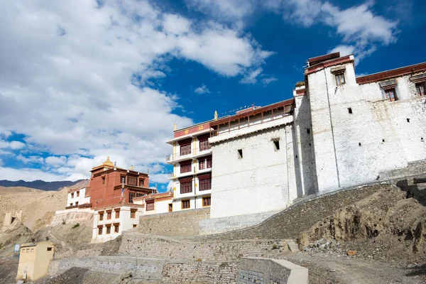
[[[307,268],[290,261],[268,258],[243,258],[237,284],[307,284]]]

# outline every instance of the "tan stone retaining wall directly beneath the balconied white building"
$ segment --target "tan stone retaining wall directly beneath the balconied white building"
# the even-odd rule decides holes
[[[194,236],[199,232],[198,222],[209,218],[210,208],[146,215],[139,219],[139,231],[143,234]]]

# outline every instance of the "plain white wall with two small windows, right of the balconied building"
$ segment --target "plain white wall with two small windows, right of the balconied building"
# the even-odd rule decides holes
[[[292,129],[281,125],[213,144],[211,218],[283,209],[297,197]],[[280,138],[280,150],[271,138]]]

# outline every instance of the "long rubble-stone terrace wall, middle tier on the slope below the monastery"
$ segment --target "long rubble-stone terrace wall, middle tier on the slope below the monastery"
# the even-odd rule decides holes
[[[202,261],[235,261],[244,256],[274,257],[288,251],[280,239],[180,242],[137,234],[124,234],[119,254],[149,258]]]

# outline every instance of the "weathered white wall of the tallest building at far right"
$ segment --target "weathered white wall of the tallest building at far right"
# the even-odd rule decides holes
[[[408,80],[400,77],[399,100],[388,102],[378,82],[356,84],[354,65],[345,66],[341,86],[332,67],[308,75],[319,191],[370,182],[382,171],[426,158],[420,141],[426,131],[425,99],[415,97]]]

